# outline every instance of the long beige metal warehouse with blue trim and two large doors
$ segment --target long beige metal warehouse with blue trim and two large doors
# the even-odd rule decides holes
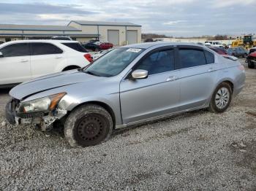
[[[0,24],[0,41],[19,39],[50,39],[70,36],[79,42],[99,39],[114,45],[141,42],[141,26],[133,23],[72,20],[67,26]]]

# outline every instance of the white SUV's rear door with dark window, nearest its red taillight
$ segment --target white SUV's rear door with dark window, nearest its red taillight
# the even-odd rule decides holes
[[[48,42],[32,42],[31,48],[31,71],[32,77],[39,77],[57,72],[59,64],[66,65],[64,51]]]

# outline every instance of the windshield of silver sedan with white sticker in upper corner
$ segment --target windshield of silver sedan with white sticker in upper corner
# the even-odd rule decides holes
[[[121,47],[98,58],[84,70],[99,77],[113,77],[123,71],[144,49]]]

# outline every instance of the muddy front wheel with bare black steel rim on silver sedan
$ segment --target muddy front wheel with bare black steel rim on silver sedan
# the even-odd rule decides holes
[[[80,106],[69,114],[64,135],[72,147],[88,147],[107,141],[113,131],[113,120],[101,106]]]

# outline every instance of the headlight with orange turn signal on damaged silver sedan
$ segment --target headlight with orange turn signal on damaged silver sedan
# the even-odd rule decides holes
[[[57,104],[66,93],[49,95],[44,98],[26,101],[20,104],[19,113],[49,112],[56,109]]]

